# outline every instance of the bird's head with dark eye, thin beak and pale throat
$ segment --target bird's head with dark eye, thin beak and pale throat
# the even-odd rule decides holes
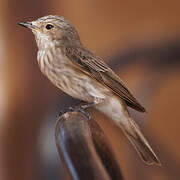
[[[80,44],[75,27],[62,16],[44,16],[31,22],[19,22],[21,26],[32,30],[39,48],[55,44],[56,46]]]

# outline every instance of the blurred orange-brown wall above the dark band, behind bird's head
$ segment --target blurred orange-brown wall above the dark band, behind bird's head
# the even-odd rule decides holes
[[[178,0],[62,0],[54,7],[76,24],[88,47],[102,54],[179,35]]]

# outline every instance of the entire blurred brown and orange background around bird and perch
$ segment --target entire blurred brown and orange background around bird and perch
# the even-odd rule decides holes
[[[180,179],[180,1],[0,0],[0,179],[63,179],[54,142],[58,112],[76,103],[48,81],[36,61],[30,31],[17,25],[65,16],[82,42],[122,77],[148,110],[131,110],[162,162],[146,166],[121,131],[102,114],[125,179]]]

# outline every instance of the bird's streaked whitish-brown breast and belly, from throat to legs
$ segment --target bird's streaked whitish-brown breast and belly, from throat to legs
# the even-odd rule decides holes
[[[74,98],[87,102],[106,97],[109,90],[75,68],[65,56],[59,54],[58,58],[54,59],[51,56],[49,51],[39,51],[38,63],[42,73],[59,89]]]

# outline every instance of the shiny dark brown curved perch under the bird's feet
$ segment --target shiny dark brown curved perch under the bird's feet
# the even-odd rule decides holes
[[[122,180],[102,129],[80,112],[61,115],[55,128],[60,160],[74,180]]]

